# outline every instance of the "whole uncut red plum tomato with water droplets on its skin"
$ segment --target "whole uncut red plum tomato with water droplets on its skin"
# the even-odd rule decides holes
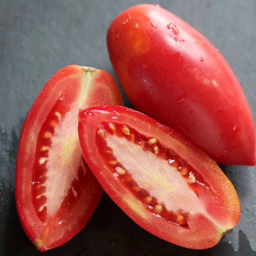
[[[217,49],[154,5],[111,23],[107,46],[133,106],[172,127],[223,164],[255,164],[255,128],[243,90]]]

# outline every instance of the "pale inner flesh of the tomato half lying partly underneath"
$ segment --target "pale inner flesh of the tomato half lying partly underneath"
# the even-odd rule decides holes
[[[53,216],[60,208],[82,162],[78,139],[78,107],[72,107],[54,132],[46,163],[45,196],[47,213]],[[74,196],[76,191],[72,190]]]

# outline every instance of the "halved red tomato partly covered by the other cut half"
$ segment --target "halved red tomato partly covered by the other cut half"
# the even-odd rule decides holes
[[[83,160],[79,108],[123,104],[103,70],[67,66],[44,86],[20,134],[15,197],[21,224],[37,249],[67,242],[86,224],[102,187]]]

